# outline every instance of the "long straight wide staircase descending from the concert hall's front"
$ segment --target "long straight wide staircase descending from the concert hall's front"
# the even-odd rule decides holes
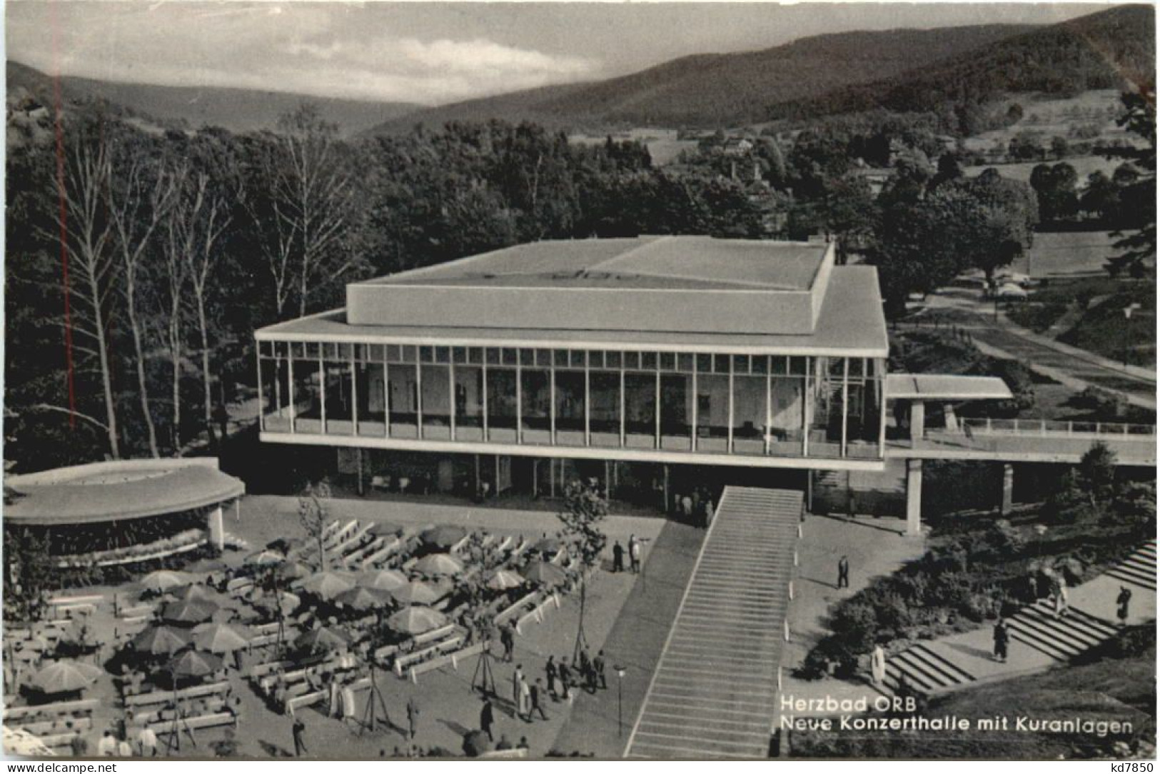
[[[802,502],[725,489],[626,757],[767,757]]]

